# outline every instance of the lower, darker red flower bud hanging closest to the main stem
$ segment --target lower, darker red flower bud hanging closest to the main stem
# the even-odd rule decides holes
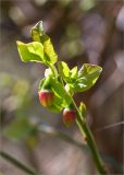
[[[63,122],[70,127],[76,119],[76,112],[74,109],[64,108]]]

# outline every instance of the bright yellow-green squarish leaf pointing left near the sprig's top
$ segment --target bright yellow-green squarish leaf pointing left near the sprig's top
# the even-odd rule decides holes
[[[22,61],[47,62],[45,60],[44,46],[41,43],[33,42],[24,44],[22,42],[16,42],[16,44]]]

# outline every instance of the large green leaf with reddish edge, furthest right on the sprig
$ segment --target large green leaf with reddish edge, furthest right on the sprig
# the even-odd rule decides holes
[[[84,92],[89,90],[98,80],[102,72],[102,68],[97,65],[84,63],[78,71],[78,79],[73,89],[75,92]]]

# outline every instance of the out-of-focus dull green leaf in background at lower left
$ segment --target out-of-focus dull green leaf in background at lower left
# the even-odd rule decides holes
[[[33,126],[26,117],[17,116],[9,126],[3,130],[3,136],[7,138],[20,141],[25,139],[30,133]]]

